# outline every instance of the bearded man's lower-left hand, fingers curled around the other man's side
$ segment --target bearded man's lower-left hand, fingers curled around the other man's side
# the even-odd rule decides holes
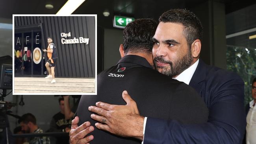
[[[93,126],[90,126],[90,122],[85,122],[81,126],[78,127],[79,118],[76,116],[74,120],[72,120],[71,130],[69,132],[69,142],[70,144],[87,144],[91,140],[93,140],[93,135],[88,135],[94,130]]]

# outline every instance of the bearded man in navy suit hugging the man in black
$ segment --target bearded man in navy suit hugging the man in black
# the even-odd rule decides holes
[[[233,72],[208,66],[199,59],[202,25],[192,12],[169,10],[159,21],[152,50],[156,68],[197,90],[209,109],[208,122],[184,125],[175,120],[141,118],[142,114],[136,113],[135,102],[126,94],[124,99],[133,104],[116,107],[98,102],[97,107],[90,107],[101,115],[92,116],[101,122],[95,126],[113,134],[139,138],[144,144],[241,143],[246,124],[243,80]],[[127,125],[129,128],[124,127]]]

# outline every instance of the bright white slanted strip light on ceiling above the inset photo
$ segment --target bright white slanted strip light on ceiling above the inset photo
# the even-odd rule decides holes
[[[72,14],[85,0],[68,0],[66,4],[56,13],[57,15]]]

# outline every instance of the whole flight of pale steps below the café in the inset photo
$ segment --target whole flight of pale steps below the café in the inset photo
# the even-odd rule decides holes
[[[50,83],[52,78],[14,78],[14,93],[47,94],[47,93],[95,93],[93,78],[55,78],[56,83]]]

